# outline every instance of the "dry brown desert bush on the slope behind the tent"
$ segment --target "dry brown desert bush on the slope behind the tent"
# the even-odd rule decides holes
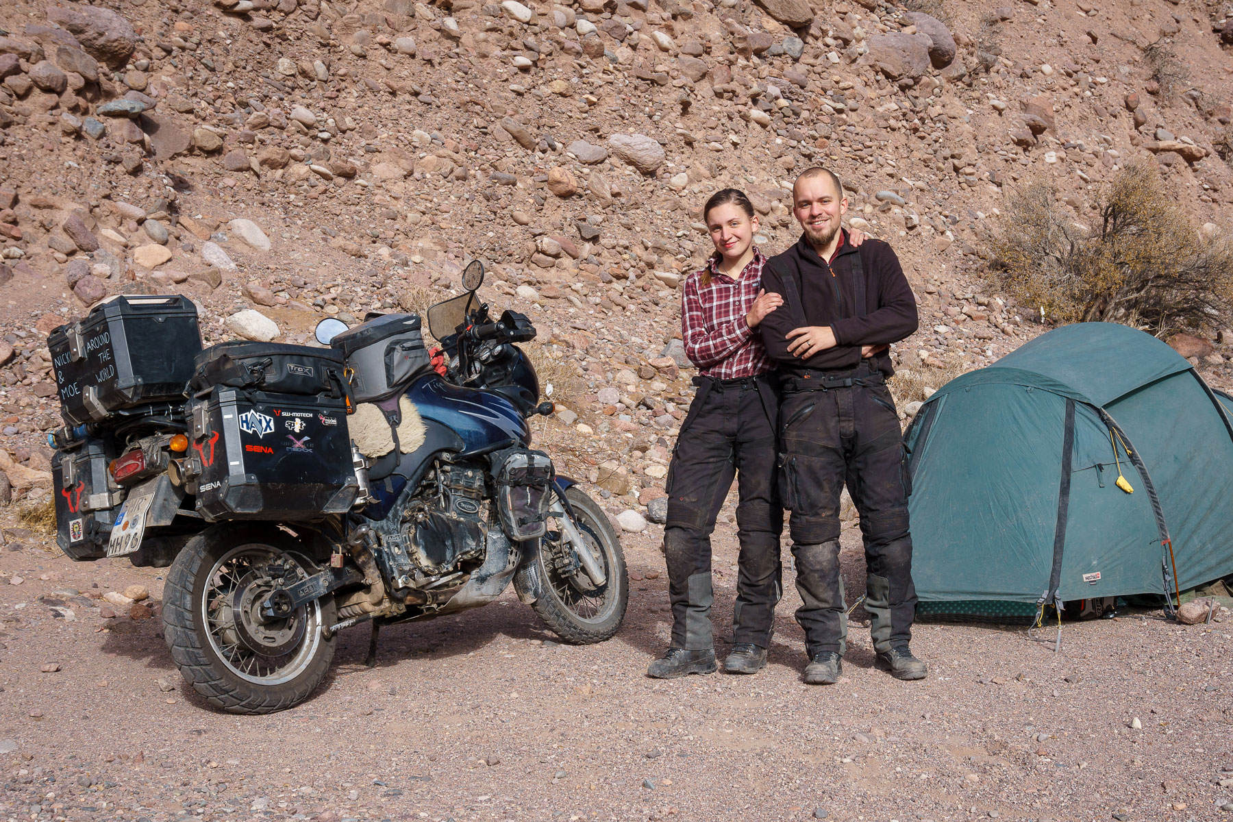
[[[993,270],[1022,304],[1060,322],[1117,322],[1160,335],[1213,324],[1233,306],[1233,244],[1200,234],[1150,161],[1102,192],[1095,227],[1037,179],[1007,192]]]

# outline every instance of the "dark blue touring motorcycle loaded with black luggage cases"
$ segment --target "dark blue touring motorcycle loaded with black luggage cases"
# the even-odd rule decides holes
[[[211,705],[291,707],[326,675],[340,631],[371,625],[371,664],[380,626],[478,608],[510,583],[566,642],[620,627],[618,535],[530,447],[528,419],[552,412],[518,346],[535,328],[513,311],[492,319],[482,282],[475,261],[464,293],[427,311],[435,364],[418,315],[370,314],[356,328],[322,320],[328,349],[206,349],[182,404],[148,389],[109,402],[109,386],[86,386],[79,403],[70,378],[89,368],[57,366],[70,425],[49,437],[53,468],[58,503],[75,502],[58,505],[60,545],[170,564],[164,636]],[[53,356],[97,365],[101,333],[65,329]]]

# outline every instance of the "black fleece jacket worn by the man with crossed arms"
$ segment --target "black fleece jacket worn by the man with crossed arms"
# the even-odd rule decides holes
[[[852,259],[861,255],[864,272],[864,312],[856,311],[856,280]],[[784,279],[792,277],[800,296],[794,304],[784,290]],[[804,370],[847,371],[861,364],[862,345],[898,343],[911,335],[920,325],[916,298],[907,285],[899,258],[885,243],[867,239],[861,248],[848,243],[843,232],[843,244],[835,258],[835,266],[827,265],[801,234],[795,245],[777,254],[762,272],[762,287],[767,293],[778,293],[784,304],[762,320],[762,343],[767,352],[779,364],[782,372],[792,375]],[[788,332],[804,325],[830,325],[838,343],[834,349],[801,360],[788,352]],[[870,365],[888,377],[894,373],[889,351],[872,357]]]

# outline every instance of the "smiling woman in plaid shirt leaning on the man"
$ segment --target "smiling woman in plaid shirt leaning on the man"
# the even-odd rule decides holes
[[[665,487],[672,641],[646,670],[661,679],[718,669],[710,629],[710,534],[734,476],[741,553],[725,670],[753,674],[766,665],[780,596],[783,510],[774,481],[779,399],[757,328],[783,298],[762,291],[767,258],[753,245],[758,217],[748,197],[736,189],[718,191],[707,201],[703,219],[715,254],[686,279],[681,301],[686,356],[699,368],[693,380],[698,392],[681,424]],[[864,237],[854,233],[850,239],[859,245]]]

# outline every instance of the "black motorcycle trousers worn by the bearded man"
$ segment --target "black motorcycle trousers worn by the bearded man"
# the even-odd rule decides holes
[[[912,539],[907,523],[911,493],[899,415],[885,381],[862,365],[848,378],[785,381],[779,488],[797,562],[803,605],[797,621],[810,658],[821,651],[842,654],[847,615],[840,576],[840,493],[848,493],[864,537],[866,600],[874,649],[911,641],[916,615]],[[814,387],[805,388],[813,382]],[[817,383],[843,383],[817,387]]]

